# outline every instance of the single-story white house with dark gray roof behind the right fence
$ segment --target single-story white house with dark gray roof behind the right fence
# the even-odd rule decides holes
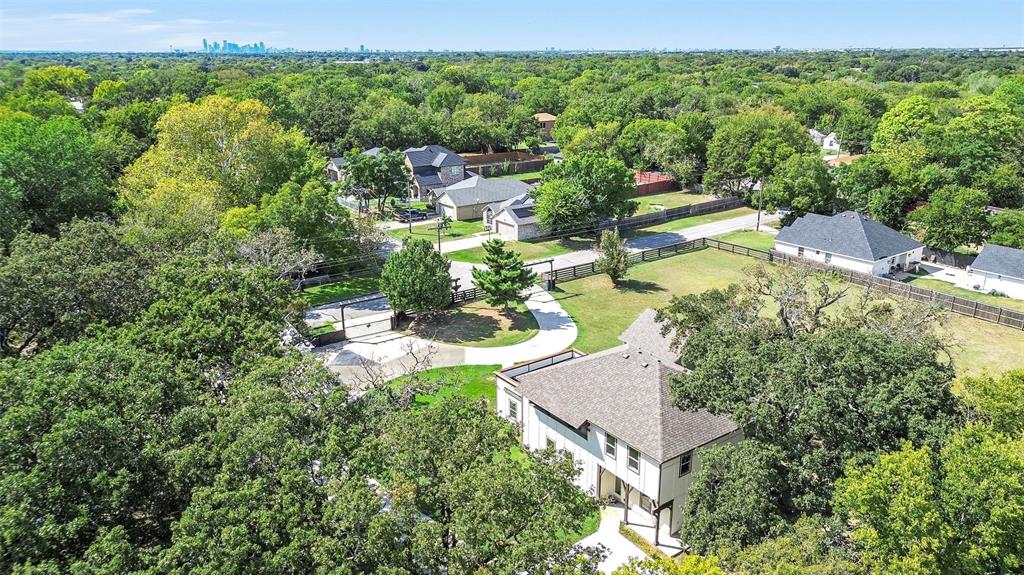
[[[895,229],[849,211],[807,214],[779,230],[775,251],[837,267],[882,275],[921,262],[925,247]]]

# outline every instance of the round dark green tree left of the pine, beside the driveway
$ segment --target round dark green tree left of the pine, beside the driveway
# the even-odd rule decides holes
[[[380,289],[392,309],[430,313],[452,303],[452,262],[426,239],[409,238],[381,269]]]

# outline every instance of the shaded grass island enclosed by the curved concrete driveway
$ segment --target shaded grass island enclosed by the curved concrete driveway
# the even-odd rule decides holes
[[[512,346],[538,333],[537,318],[520,305],[509,315],[478,301],[444,310],[429,318],[417,318],[407,334],[427,340],[477,348]]]

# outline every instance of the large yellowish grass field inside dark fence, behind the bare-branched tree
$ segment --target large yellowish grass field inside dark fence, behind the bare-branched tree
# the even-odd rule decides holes
[[[595,352],[618,345],[618,335],[646,308],[658,308],[674,295],[725,288],[761,262],[719,250],[702,250],[634,266],[620,286],[605,275],[558,284],[554,296],[580,330],[574,347]],[[848,297],[855,297],[853,286]],[[1024,367],[1024,330],[949,314],[938,328],[950,347],[959,373]]]

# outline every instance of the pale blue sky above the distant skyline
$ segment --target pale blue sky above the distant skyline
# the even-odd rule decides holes
[[[3,0],[3,50],[998,47],[1022,0]]]

